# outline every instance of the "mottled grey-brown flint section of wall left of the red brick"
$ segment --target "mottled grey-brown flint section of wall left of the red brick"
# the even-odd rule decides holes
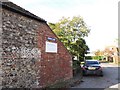
[[[41,51],[37,47],[39,23],[2,10],[3,87],[37,87]]]

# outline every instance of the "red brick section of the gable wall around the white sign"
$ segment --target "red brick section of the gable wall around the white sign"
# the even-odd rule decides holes
[[[72,77],[72,57],[52,32],[48,25],[42,24],[38,31],[38,47],[41,50],[40,86],[53,84],[59,80],[66,80]],[[57,53],[45,52],[47,37],[55,38],[58,45]]]

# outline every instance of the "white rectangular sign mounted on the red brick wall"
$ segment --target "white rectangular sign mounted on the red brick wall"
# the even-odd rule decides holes
[[[46,41],[46,52],[57,53],[57,43]]]

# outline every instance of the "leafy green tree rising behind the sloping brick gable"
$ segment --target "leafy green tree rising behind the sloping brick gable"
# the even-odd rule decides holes
[[[90,29],[82,17],[75,16],[72,19],[63,17],[55,24],[49,23],[49,26],[73,56],[77,56],[79,60],[84,59],[89,48],[83,38],[88,36]]]

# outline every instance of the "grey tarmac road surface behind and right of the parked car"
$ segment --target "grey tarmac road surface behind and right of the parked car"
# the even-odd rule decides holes
[[[84,76],[82,82],[73,88],[120,88],[120,72],[118,75],[118,65],[112,63],[101,63],[103,67],[103,77]],[[118,77],[119,76],[119,77]]]

